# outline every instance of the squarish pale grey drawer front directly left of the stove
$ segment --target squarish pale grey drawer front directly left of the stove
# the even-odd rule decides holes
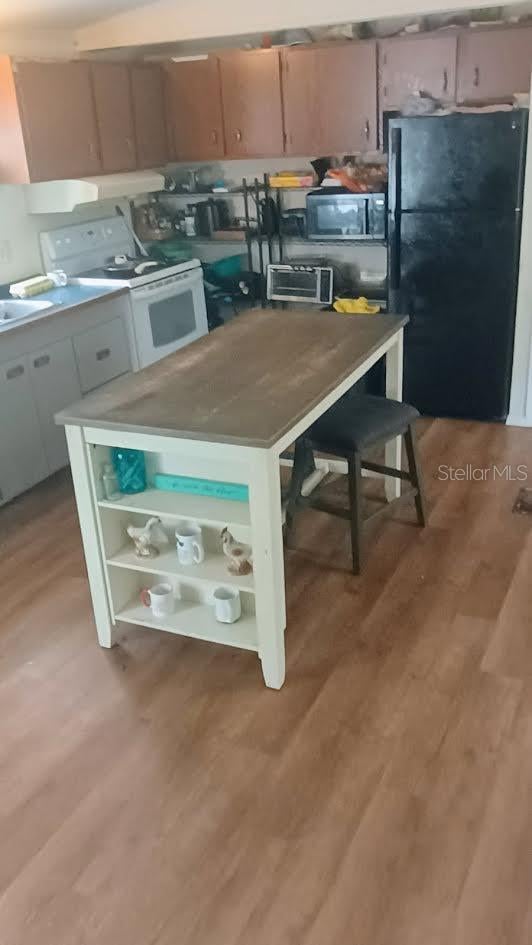
[[[113,318],[72,339],[84,394],[131,370],[124,325]]]

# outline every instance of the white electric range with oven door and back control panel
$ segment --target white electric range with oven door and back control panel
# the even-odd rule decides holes
[[[133,368],[159,361],[208,332],[203,271],[199,259],[124,279],[104,272],[116,256],[135,258],[133,235],[122,217],[76,223],[41,233],[45,272],[62,269],[81,285],[130,289],[128,332]]]

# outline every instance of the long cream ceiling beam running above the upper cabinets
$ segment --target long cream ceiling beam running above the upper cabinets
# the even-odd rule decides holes
[[[511,4],[506,2],[504,6]],[[275,32],[297,27],[362,22],[403,14],[486,6],[486,0],[157,0],[79,30],[80,49],[143,46],[207,37]]]

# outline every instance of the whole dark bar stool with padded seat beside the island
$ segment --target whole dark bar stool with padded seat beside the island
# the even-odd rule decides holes
[[[354,394],[349,391],[304,433],[295,444],[294,466],[286,503],[285,537],[288,540],[298,506],[307,506],[347,518],[351,523],[353,573],[360,574],[362,566],[363,525],[388,512],[396,503],[413,497],[417,521],[425,525],[425,499],[421,470],[417,456],[414,422],[419,417],[415,407],[386,397]],[[404,436],[408,471],[393,469],[381,463],[363,460],[361,453],[370,447],[383,445],[396,436]],[[329,453],[347,460],[349,508],[338,508],[320,498],[319,489],[303,497],[301,489],[314,451]],[[372,515],[362,517],[362,470],[381,473],[405,480],[411,488],[397,499],[387,502]]]

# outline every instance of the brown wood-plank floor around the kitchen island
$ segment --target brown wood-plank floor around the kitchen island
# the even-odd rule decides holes
[[[124,628],[100,650],[66,476],[0,512],[2,945],[530,945],[532,430],[438,421],[425,531],[354,578],[307,511],[287,682]]]

